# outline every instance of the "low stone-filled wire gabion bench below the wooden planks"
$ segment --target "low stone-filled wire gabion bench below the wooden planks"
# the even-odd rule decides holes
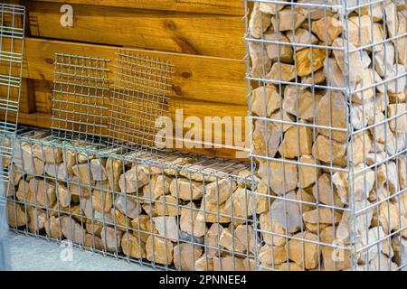
[[[248,164],[185,154],[147,164],[29,137],[5,163],[11,227],[178,270],[253,268]]]

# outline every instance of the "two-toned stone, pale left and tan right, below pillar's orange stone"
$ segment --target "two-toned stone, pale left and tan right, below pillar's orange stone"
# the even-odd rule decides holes
[[[320,99],[320,95],[313,96],[308,89],[298,89],[297,86],[289,85],[284,89],[282,108],[293,116],[312,120]]]

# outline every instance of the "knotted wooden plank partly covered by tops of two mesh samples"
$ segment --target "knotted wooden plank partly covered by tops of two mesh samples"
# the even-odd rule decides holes
[[[161,51],[129,49],[142,57],[166,59],[174,67],[173,96],[246,105],[245,62]],[[117,47],[60,42],[28,37],[25,40],[24,77],[53,80],[55,53],[99,57],[114,62]],[[112,63],[111,63],[112,64]],[[109,79],[115,68],[110,65]],[[1,68],[0,68],[1,70]]]

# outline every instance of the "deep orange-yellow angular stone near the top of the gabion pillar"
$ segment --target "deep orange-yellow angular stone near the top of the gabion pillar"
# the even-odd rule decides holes
[[[324,66],[326,57],[327,51],[324,49],[314,48],[311,51],[310,48],[306,48],[298,51],[296,55],[298,75],[304,77],[317,72]]]

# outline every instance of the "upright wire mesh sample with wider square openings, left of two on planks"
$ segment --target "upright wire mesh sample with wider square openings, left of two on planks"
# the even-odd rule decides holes
[[[55,54],[52,136],[101,144],[107,136],[109,60]]]

